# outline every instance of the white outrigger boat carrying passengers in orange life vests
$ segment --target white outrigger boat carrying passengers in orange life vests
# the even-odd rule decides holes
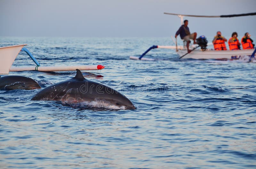
[[[235,14],[235,15],[220,15],[220,16],[204,16],[204,15],[184,15],[184,14],[175,14],[175,13],[166,13],[164,14],[168,15],[176,15],[180,17],[180,22],[181,25],[183,24],[183,17],[188,16],[188,17],[207,17],[207,18],[225,18],[225,17],[239,17],[239,16],[249,16],[249,15],[256,15],[256,12],[254,13],[245,13],[245,14]],[[172,38],[173,39],[173,38]],[[174,39],[173,39],[174,41]],[[185,41],[183,41],[183,46],[177,46],[177,39],[176,46],[158,46],[158,45],[153,45],[152,47],[148,48],[147,51],[145,51],[140,57],[136,56],[130,56],[130,59],[135,59],[135,60],[147,60],[147,61],[153,61],[156,59],[152,58],[145,58],[143,57],[146,55],[150,50],[155,49],[155,48],[164,48],[164,49],[176,49],[177,54],[180,56],[180,59],[217,59],[217,60],[237,60],[244,58],[245,56],[248,57],[250,56],[249,60],[251,62],[252,58],[255,59],[255,53],[254,49],[246,49],[246,50],[214,50],[214,49],[197,49],[199,46],[191,45],[190,47],[193,48],[193,51],[190,53],[187,53],[187,47],[185,45]],[[212,44],[212,43],[210,43]],[[208,45],[210,45],[208,43]],[[254,53],[252,55],[252,53]]]

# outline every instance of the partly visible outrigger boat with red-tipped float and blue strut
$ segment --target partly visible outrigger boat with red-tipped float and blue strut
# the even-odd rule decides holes
[[[102,65],[77,65],[77,66],[40,66],[34,56],[28,51],[27,48],[22,45],[0,47],[0,75],[8,75],[9,71],[25,71],[25,70],[37,70],[37,71],[74,71],[79,70],[101,70],[105,66]],[[11,67],[17,55],[20,51],[25,51],[29,57],[36,63],[36,66],[32,67]]]

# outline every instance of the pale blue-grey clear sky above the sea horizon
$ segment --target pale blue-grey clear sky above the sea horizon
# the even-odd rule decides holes
[[[0,36],[170,37],[180,18],[256,12],[256,0],[0,0]],[[256,16],[188,19],[190,32],[256,37]]]

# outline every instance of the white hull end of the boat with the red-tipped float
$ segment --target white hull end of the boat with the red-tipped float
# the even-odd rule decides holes
[[[13,61],[26,44],[0,47],[0,75],[8,75]]]

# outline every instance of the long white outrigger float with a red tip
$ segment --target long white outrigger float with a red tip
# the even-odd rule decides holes
[[[78,65],[78,66],[31,66],[31,67],[11,67],[9,71],[28,71],[28,70],[37,70],[37,71],[75,71],[79,70],[101,70],[105,66],[102,65]]]

